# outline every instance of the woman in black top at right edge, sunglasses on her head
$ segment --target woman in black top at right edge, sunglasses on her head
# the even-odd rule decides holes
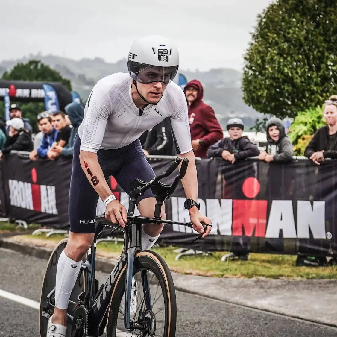
[[[328,125],[317,130],[304,151],[304,155],[317,165],[325,158],[337,159],[337,95],[325,101],[324,118]]]

